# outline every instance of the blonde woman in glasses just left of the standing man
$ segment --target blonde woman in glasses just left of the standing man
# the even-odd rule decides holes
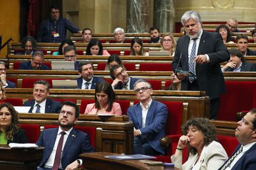
[[[162,47],[162,51],[169,51],[170,56],[174,56],[176,41],[174,39],[173,34],[171,33],[164,34],[160,44]]]

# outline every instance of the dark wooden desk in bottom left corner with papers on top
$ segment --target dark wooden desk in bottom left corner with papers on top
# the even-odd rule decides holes
[[[0,169],[33,170],[43,156],[43,147],[35,149],[11,149],[0,145]]]

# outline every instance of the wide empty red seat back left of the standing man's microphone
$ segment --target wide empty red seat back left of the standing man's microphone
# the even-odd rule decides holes
[[[171,63],[140,63],[139,71],[173,71]]]

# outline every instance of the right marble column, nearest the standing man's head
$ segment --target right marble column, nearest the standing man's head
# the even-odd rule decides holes
[[[161,33],[173,32],[174,2],[173,0],[154,1],[154,25]]]

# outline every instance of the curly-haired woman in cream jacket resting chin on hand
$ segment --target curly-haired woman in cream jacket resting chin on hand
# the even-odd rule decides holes
[[[228,155],[222,145],[217,142],[216,127],[207,118],[192,118],[182,126],[176,152],[171,156],[171,162],[176,168],[219,169],[227,160]],[[182,151],[189,147],[189,158],[182,164]]]

